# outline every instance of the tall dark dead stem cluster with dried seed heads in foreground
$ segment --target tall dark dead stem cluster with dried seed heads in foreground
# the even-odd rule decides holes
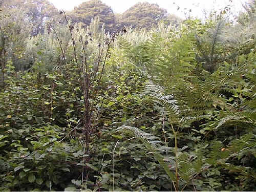
[[[83,107],[85,109],[83,114],[83,123],[82,123],[82,134],[84,139],[84,149],[83,149],[83,160],[82,160],[82,188],[83,190],[83,175],[85,173],[86,166],[84,166],[84,163],[86,163],[86,154],[89,153],[89,144],[92,140],[92,135],[95,131],[96,121],[99,114],[99,109],[97,108],[97,98],[99,94],[100,89],[100,81],[104,72],[105,63],[109,56],[109,50],[111,42],[114,41],[115,35],[117,32],[113,33],[111,36],[105,36],[105,39],[102,39],[102,42],[99,42],[99,52],[96,59],[96,67],[90,68],[90,63],[88,63],[87,60],[87,47],[88,47],[88,40],[84,39],[84,36],[81,34],[80,30],[77,29],[78,35],[79,35],[79,42],[82,46],[82,60],[79,60],[77,57],[77,51],[76,51],[76,41],[73,35],[74,26],[72,26],[67,18],[67,15],[65,11],[61,11],[61,14],[65,17],[65,20],[68,24],[70,36],[72,39],[72,45],[74,50],[74,60],[76,67],[78,69],[78,82],[80,84],[80,89],[82,90],[83,94]],[[56,31],[54,30],[54,33],[57,36]],[[91,36],[91,32],[89,33],[89,36]],[[87,35],[86,35],[87,37]],[[57,36],[57,40],[59,41],[59,46],[61,47],[61,41]],[[65,55],[63,53],[63,50],[61,48],[61,52],[63,57],[65,58]],[[66,63],[66,60],[65,60]],[[101,66],[101,67],[100,67]],[[102,105],[103,101],[101,101],[100,105]],[[114,187],[114,185],[113,185]]]

